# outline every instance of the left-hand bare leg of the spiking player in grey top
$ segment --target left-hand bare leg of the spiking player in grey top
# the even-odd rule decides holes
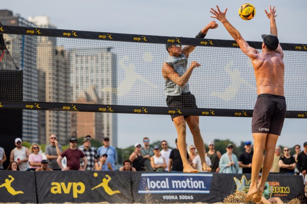
[[[183,116],[178,116],[173,119],[177,129],[178,138],[177,146],[183,163],[183,172],[197,172],[189,163],[187,158],[187,143],[186,143],[186,130],[187,125]]]

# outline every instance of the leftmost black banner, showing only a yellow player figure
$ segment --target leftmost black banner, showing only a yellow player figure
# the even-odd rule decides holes
[[[0,171],[0,203],[37,203],[35,173]]]

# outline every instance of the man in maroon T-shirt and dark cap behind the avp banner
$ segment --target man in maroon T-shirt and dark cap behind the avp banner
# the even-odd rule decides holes
[[[66,157],[67,167],[62,166],[62,159]],[[84,161],[84,166],[80,167],[80,159]],[[71,138],[69,141],[69,148],[62,152],[62,154],[56,160],[57,164],[63,171],[67,170],[82,170],[84,171],[87,167],[88,160],[86,159],[84,153],[77,149],[77,139]]]

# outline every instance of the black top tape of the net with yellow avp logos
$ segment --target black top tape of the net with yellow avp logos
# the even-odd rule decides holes
[[[29,36],[50,36],[50,37],[60,37],[60,38],[93,39],[93,40],[106,40],[106,41],[177,43],[177,44],[197,45],[197,46],[239,47],[236,41],[229,41],[229,40],[149,36],[149,35],[139,35],[139,34],[119,34],[119,33],[75,31],[75,30],[61,30],[61,29],[20,27],[20,26],[0,26],[0,33],[29,35]],[[250,46],[256,49],[261,49],[262,42],[256,42],[256,41],[247,41],[247,42],[249,43]],[[283,50],[307,51],[307,44],[280,43],[280,45],[282,46]]]

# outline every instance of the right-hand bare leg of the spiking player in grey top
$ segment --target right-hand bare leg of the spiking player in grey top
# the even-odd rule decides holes
[[[200,121],[199,116],[189,116],[186,118],[186,122],[188,123],[190,131],[193,135],[194,145],[201,158],[202,168],[204,171],[206,171],[206,170],[211,170],[211,168],[205,162],[205,145],[203,137],[201,135],[199,121]]]

